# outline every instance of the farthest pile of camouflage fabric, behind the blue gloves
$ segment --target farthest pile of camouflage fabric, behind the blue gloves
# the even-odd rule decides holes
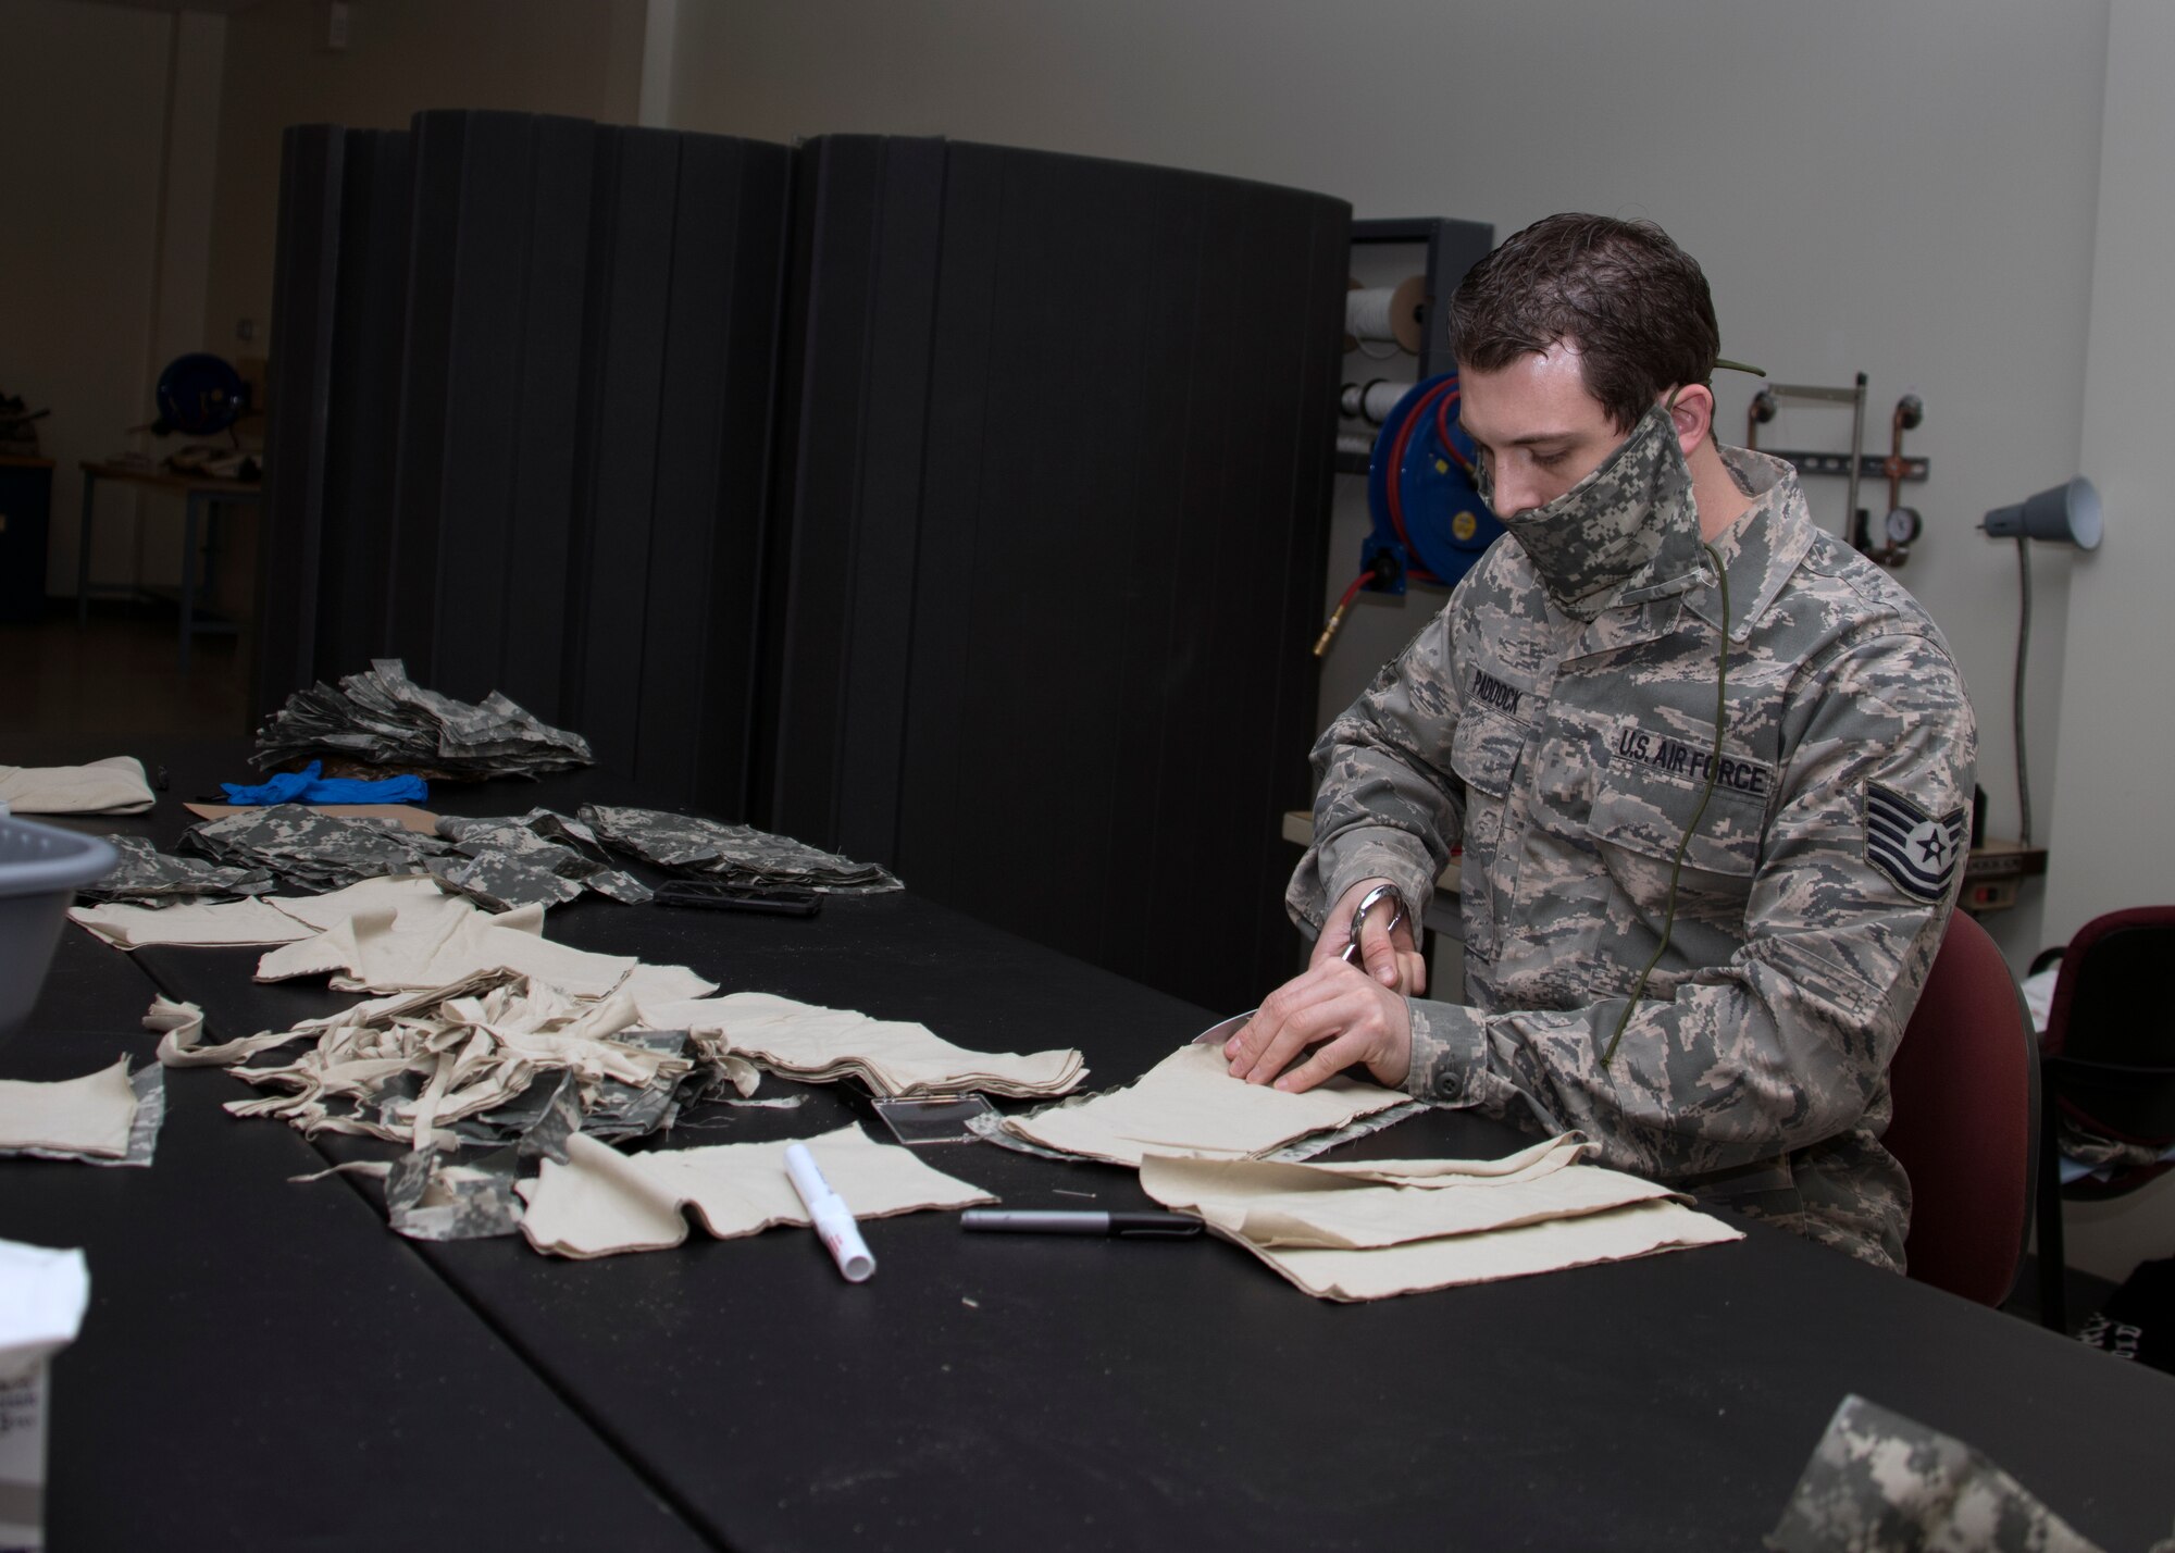
[[[589,766],[579,733],[552,729],[496,689],[470,705],[424,689],[400,659],[374,659],[370,672],[298,689],[257,729],[259,770],[285,770],[309,757],[346,757],[418,776],[483,781],[535,776]]]

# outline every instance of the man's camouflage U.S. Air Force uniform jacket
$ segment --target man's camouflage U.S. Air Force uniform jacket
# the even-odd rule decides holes
[[[1412,1001],[1416,1096],[1531,1107],[1609,1168],[1901,1266],[1888,1059],[1962,866],[1929,822],[1940,887],[1905,890],[1868,855],[1868,794],[1968,811],[1977,731],[1925,609],[1812,524],[1788,463],[1720,455],[1751,509],[1712,555],[1662,407],[1505,518],[1316,744],[1285,900],[1318,929],[1388,879],[1418,914],[1464,844],[1464,1001]]]

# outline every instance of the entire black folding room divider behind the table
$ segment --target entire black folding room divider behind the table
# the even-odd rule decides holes
[[[257,711],[396,655],[1244,1005],[1294,953],[1348,215],[937,139],[289,131]]]

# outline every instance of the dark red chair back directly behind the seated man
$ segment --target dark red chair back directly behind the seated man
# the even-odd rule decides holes
[[[1888,1066],[1888,1092],[1881,1144],[1910,1177],[1910,1277],[1999,1305],[2031,1233],[2038,1048],[2008,961],[1962,911]]]

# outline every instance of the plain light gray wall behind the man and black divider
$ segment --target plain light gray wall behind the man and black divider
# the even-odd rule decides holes
[[[1881,437],[1897,396],[1925,396],[1910,446],[1934,479],[1905,500],[1927,537],[1903,581],[1988,709],[1990,827],[2014,835],[2014,557],[1973,524],[2077,470],[2105,26],[2103,0],[683,4],[672,117],[1129,157],[1499,235],[1559,209],[1662,222],[1714,283],[1725,355],[1794,383],[1866,372]],[[1740,428],[1749,383],[1718,389],[1723,426]],[[1844,448],[1847,415],[1788,409],[1764,439]],[[1344,481],[1338,502],[1325,613],[1357,572],[1359,487]],[[1840,526],[1840,483],[1812,500]],[[2068,559],[2044,557],[2036,581],[2044,816]],[[1362,600],[1331,653],[1325,722],[1440,598]],[[1988,927],[2027,959],[2036,887]]]

